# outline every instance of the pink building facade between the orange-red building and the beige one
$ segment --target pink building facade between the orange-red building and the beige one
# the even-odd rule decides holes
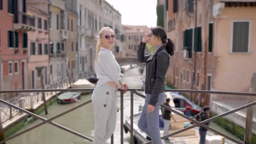
[[[48,0],[27,1],[27,13],[35,18],[35,30],[28,32],[28,89],[42,88],[41,73],[44,84],[49,83],[49,4]]]

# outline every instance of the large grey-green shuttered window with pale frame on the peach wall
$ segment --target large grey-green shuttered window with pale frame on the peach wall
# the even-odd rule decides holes
[[[247,53],[249,43],[249,21],[233,22],[232,52]]]

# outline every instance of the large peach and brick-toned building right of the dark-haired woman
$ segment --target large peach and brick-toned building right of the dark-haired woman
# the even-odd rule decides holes
[[[252,73],[256,71],[251,64],[255,61],[256,1],[168,2],[168,37],[176,47],[168,69],[168,83],[180,89],[248,92]],[[202,106],[231,98],[197,93],[190,96]]]

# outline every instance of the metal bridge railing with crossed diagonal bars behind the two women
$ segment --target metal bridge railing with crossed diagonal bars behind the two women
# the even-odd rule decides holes
[[[56,92],[56,91],[67,92],[67,91],[93,91],[93,90],[94,90],[93,88],[92,88],[92,89],[89,89],[89,88],[76,88],[76,89],[39,89],[39,90],[0,91],[0,93],[31,93],[31,92]],[[119,90],[119,91],[120,91],[120,97],[121,97],[121,99],[120,99],[120,104],[121,104],[121,107],[120,107],[120,112],[121,112],[121,117],[120,117],[120,123],[121,123],[121,127],[120,127],[120,132],[121,132],[121,133],[120,133],[120,135],[121,135],[120,144],[123,144],[123,91],[122,91],[122,90]],[[131,88],[131,89],[128,89],[128,91],[131,91],[131,130],[130,130],[131,138],[130,138],[130,140],[131,140],[131,144],[133,144],[133,96],[134,96],[134,94],[136,94],[136,95],[138,95],[138,96],[140,96],[140,97],[142,97],[142,98],[145,98],[145,96],[144,96],[143,94],[141,94],[141,93],[138,92],[138,91],[141,91],[141,89]],[[237,93],[237,92],[226,92],[226,91],[198,91],[198,90],[179,90],[179,89],[165,89],[165,91],[168,91],[168,92],[186,92],[186,93],[209,93],[209,94],[213,93],[213,94],[227,94],[227,95],[240,95],[240,96],[256,96],[256,93]],[[86,101],[86,102],[84,102],[84,103],[82,103],[82,104],[80,104],[80,105],[78,105],[78,106],[76,106],[76,107],[73,107],[72,109],[69,109],[69,110],[67,110],[67,111],[65,111],[65,112],[62,112],[61,114],[56,115],[56,116],[54,116],[54,117],[52,117],[52,118],[50,118],[50,119],[45,119],[44,117],[41,117],[41,116],[39,116],[39,115],[36,115],[36,114],[34,114],[34,113],[32,113],[32,112],[29,112],[29,111],[27,111],[27,110],[25,110],[25,109],[22,109],[22,108],[16,106],[15,104],[11,104],[11,103],[9,103],[9,102],[7,102],[7,101],[4,101],[4,100],[2,100],[2,99],[0,99],[0,102],[3,103],[3,104],[8,105],[9,107],[12,107],[12,108],[14,108],[14,109],[17,109],[17,110],[19,110],[19,111],[21,111],[21,112],[24,112],[24,113],[26,113],[26,114],[28,114],[28,115],[31,115],[31,116],[34,117],[34,118],[37,118],[37,119],[40,119],[40,120],[43,121],[42,123],[39,123],[39,124],[37,124],[37,125],[35,125],[35,126],[31,127],[31,128],[28,128],[27,130],[24,130],[24,131],[22,131],[22,132],[20,132],[20,133],[17,133],[16,135],[13,135],[13,136],[11,136],[11,137],[8,137],[7,139],[5,139],[5,140],[3,140],[3,141],[0,141],[0,144],[3,144],[3,143],[5,143],[6,141],[9,141],[9,140],[11,140],[11,139],[13,139],[13,138],[16,138],[17,136],[20,136],[20,135],[23,134],[23,133],[26,133],[26,132],[28,132],[28,131],[31,131],[31,130],[33,130],[33,129],[35,129],[35,128],[37,128],[37,127],[39,127],[39,126],[41,126],[41,125],[43,125],[43,124],[45,124],[45,123],[49,123],[49,124],[51,124],[51,125],[53,125],[53,126],[56,126],[57,128],[60,128],[60,129],[64,130],[64,131],[67,131],[67,132],[69,132],[69,133],[75,134],[76,136],[79,136],[79,137],[81,137],[81,138],[83,138],[83,139],[85,139],[85,140],[88,140],[88,141],[91,141],[91,142],[93,141],[93,139],[91,139],[91,138],[88,137],[88,136],[84,136],[83,134],[77,133],[76,131],[72,131],[72,130],[69,129],[69,128],[66,128],[66,127],[64,127],[64,126],[62,126],[62,125],[59,125],[58,123],[54,123],[54,122],[53,122],[53,120],[55,120],[55,119],[58,118],[58,117],[61,117],[62,115],[65,115],[65,114],[67,114],[67,113],[69,113],[69,112],[74,111],[75,109],[78,109],[78,108],[80,108],[80,107],[83,107],[83,106],[85,106],[86,104],[90,104],[90,103],[91,103],[91,100]],[[241,142],[241,141],[238,141],[238,140],[236,140],[236,139],[233,139],[232,137],[227,136],[227,135],[225,135],[224,133],[221,133],[221,132],[219,132],[219,131],[217,131],[217,130],[215,130],[215,129],[213,129],[213,128],[207,126],[207,125],[205,125],[205,123],[208,123],[208,122],[210,122],[210,121],[216,120],[217,118],[224,117],[224,116],[226,116],[226,115],[232,114],[232,113],[237,112],[237,111],[239,111],[239,110],[242,110],[242,109],[251,107],[251,106],[253,106],[253,105],[256,105],[256,101],[253,101],[253,102],[251,102],[251,103],[249,103],[249,104],[245,104],[245,105],[242,106],[242,107],[238,107],[238,108],[233,109],[233,110],[231,110],[231,111],[229,111],[229,112],[225,112],[225,113],[223,113],[223,114],[221,114],[221,115],[217,115],[217,116],[215,116],[215,117],[211,117],[211,118],[209,118],[209,119],[207,119],[207,120],[204,120],[204,121],[202,121],[202,122],[198,122],[198,121],[192,119],[191,117],[188,117],[188,116],[186,116],[186,115],[181,114],[181,113],[178,112],[176,109],[172,109],[171,107],[167,107],[167,106],[165,106],[165,105],[162,104],[161,106],[162,106],[162,107],[165,107],[165,109],[168,109],[168,110],[170,110],[171,112],[176,113],[177,115],[179,115],[179,116],[181,116],[181,117],[184,117],[184,118],[186,118],[187,120],[190,120],[190,121],[192,121],[193,123],[195,123],[195,124],[193,124],[193,125],[190,125],[189,127],[183,128],[183,129],[181,129],[181,130],[179,130],[179,131],[175,131],[175,132],[173,132],[173,133],[169,133],[168,135],[163,136],[162,139],[165,139],[165,138],[168,138],[168,137],[170,137],[170,136],[176,135],[176,134],[181,133],[181,132],[183,132],[183,131],[187,131],[187,130],[189,130],[189,129],[191,129],[191,128],[195,128],[195,127],[197,127],[197,126],[202,126],[202,127],[207,128],[208,130],[213,131],[214,133],[217,133],[217,134],[219,134],[219,135],[221,135],[221,136],[223,136],[223,137],[225,137],[225,138],[227,138],[227,139],[229,139],[229,140],[231,140],[231,141],[234,141],[234,142],[237,143],[237,144],[244,144],[244,143]],[[113,139],[114,139],[114,136],[112,135],[112,136],[111,136],[111,144],[113,144]],[[150,144],[150,143],[151,143],[151,141],[149,141],[149,142],[147,142],[147,143],[145,143],[145,144]]]

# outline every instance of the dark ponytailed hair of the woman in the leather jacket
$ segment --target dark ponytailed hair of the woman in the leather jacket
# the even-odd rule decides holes
[[[173,56],[174,54],[174,44],[173,41],[169,38],[167,38],[167,34],[163,27],[152,27],[151,32],[156,35],[157,37],[160,37],[162,43],[167,43],[165,44],[166,50],[168,53]],[[167,42],[166,42],[167,41]]]

